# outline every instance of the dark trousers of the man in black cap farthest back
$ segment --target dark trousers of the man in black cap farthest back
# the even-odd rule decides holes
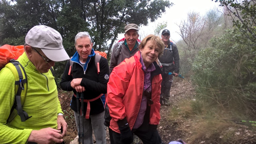
[[[160,104],[163,104],[163,100],[169,101],[170,90],[172,86],[173,76],[168,75],[168,73],[161,73],[162,83],[161,83],[161,94],[160,94]]]

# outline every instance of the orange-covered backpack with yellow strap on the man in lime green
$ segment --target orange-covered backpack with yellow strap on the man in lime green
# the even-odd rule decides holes
[[[28,116],[22,109],[27,93],[27,75],[23,66],[17,61],[18,57],[24,53],[24,46],[4,45],[0,47],[0,49],[0,70],[7,67],[13,72],[15,77],[15,99],[7,123],[12,121],[17,114],[20,116],[21,121],[26,121],[32,117]],[[52,67],[50,70],[55,77],[55,72]]]

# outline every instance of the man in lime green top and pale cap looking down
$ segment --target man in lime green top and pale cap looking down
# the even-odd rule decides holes
[[[24,50],[17,61],[27,75],[22,109],[29,117],[23,122],[19,115],[8,118],[14,102],[18,100],[15,99],[14,73],[8,67],[3,68],[0,71],[0,143],[62,143],[67,123],[63,118],[54,76],[49,71],[56,61],[69,59],[62,37],[53,28],[35,26],[25,37]]]

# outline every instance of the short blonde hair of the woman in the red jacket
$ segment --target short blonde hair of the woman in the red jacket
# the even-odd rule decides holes
[[[160,39],[160,37],[158,36],[155,36],[155,35],[148,35],[146,36],[142,41],[141,41],[141,44],[139,46],[139,50],[143,49],[146,45],[146,43],[151,40],[152,42],[152,46],[158,46],[160,48],[160,51],[159,51],[159,55],[162,55],[163,54],[163,51],[164,51],[164,42]]]

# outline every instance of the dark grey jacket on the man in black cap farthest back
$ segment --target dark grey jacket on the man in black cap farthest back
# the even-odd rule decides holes
[[[172,47],[172,51],[169,50]],[[170,41],[168,42],[167,49],[164,49],[163,55],[158,56],[158,60],[161,62],[163,66],[163,73],[175,72],[179,73],[179,52],[177,46]],[[173,64],[173,60],[175,64]],[[168,64],[168,66],[166,66]]]

